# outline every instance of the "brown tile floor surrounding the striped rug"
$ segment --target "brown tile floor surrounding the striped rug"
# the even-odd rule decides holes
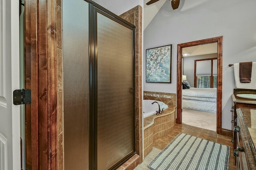
[[[155,158],[155,156],[163,150],[179,133],[186,133],[188,135],[193,135],[195,137],[200,137],[209,141],[220,143],[222,145],[227,145],[230,147],[230,157],[229,157],[229,170],[235,170],[235,158],[233,156],[233,147],[231,143],[232,137],[218,135],[215,131],[210,131],[207,129],[202,129],[199,127],[194,127],[185,124],[175,124],[174,131],[169,135],[156,140],[153,143],[153,150],[144,158],[143,162],[138,165],[134,170],[150,170],[148,164]]]

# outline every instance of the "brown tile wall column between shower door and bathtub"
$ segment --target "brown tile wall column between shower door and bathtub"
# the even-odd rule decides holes
[[[135,117],[136,117],[136,153],[142,162],[142,7],[134,8],[120,15],[124,20],[136,26],[135,33]]]

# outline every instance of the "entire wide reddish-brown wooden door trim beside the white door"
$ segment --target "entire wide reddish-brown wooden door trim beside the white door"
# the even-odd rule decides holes
[[[56,169],[56,1],[25,4],[26,169]]]

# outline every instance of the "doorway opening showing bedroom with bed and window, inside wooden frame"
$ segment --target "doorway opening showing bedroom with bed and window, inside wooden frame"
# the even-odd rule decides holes
[[[182,124],[216,131],[217,49],[217,43],[182,48]]]

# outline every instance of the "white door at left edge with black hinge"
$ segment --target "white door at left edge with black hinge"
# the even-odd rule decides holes
[[[0,0],[0,170],[20,169],[19,0]]]

